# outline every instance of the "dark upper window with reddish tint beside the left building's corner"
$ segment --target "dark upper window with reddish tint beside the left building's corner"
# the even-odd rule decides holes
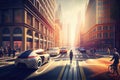
[[[14,10],[14,22],[15,23],[23,22],[23,11],[21,9]]]

